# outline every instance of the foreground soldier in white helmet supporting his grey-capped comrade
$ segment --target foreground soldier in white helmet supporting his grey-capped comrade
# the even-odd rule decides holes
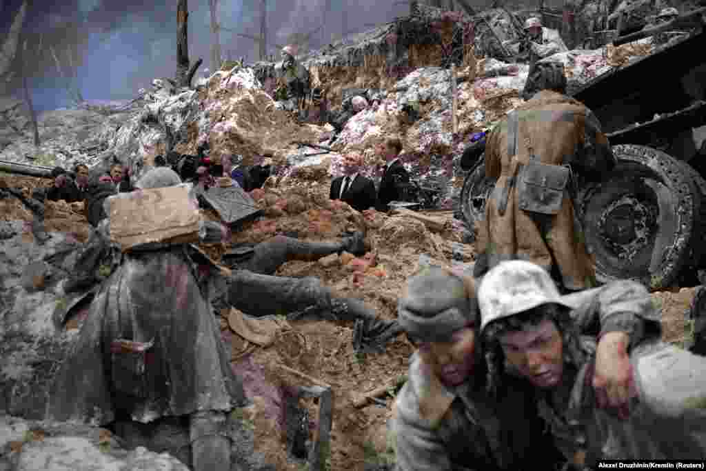
[[[706,359],[660,341],[661,314],[645,287],[620,280],[562,296],[542,267],[515,260],[484,277],[478,304],[489,393],[502,393],[517,376],[528,380],[556,446],[578,469],[606,459],[706,458],[706,409],[698,402],[706,395]],[[602,361],[594,340],[577,332],[577,315],[590,311],[645,319],[629,355],[623,348],[613,359],[630,365],[628,407],[618,414],[600,410],[606,399],[587,387]],[[606,340],[628,345],[622,333]]]

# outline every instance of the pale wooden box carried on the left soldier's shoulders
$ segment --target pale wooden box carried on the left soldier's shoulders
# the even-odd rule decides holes
[[[123,251],[187,235],[198,240],[201,214],[189,200],[190,188],[182,184],[110,196],[110,239]]]

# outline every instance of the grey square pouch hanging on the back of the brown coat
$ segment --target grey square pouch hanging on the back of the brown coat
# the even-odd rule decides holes
[[[546,165],[534,160],[522,167],[517,181],[520,209],[531,213],[555,215],[561,209],[570,178],[564,165]]]

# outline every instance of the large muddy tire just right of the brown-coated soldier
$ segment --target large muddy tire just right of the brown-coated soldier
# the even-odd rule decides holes
[[[700,197],[689,172],[644,145],[613,147],[608,179],[580,190],[579,213],[599,282],[671,287],[691,254]]]

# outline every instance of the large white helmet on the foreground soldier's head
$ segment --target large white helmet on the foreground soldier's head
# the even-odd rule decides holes
[[[481,332],[493,321],[542,304],[576,307],[575,302],[559,294],[554,280],[544,268],[522,260],[498,263],[483,277],[478,290]]]

